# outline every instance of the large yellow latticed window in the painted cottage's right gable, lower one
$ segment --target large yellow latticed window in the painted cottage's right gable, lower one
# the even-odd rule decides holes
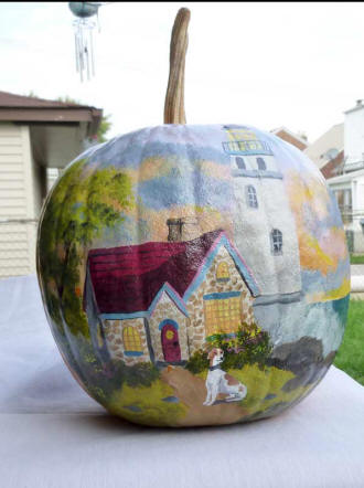
[[[242,323],[240,293],[205,295],[204,318],[206,337],[236,332]]]

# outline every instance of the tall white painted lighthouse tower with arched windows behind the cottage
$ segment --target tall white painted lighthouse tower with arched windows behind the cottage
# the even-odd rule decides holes
[[[224,126],[235,194],[234,241],[261,290],[260,300],[297,301],[301,275],[296,223],[283,176],[254,130]],[[259,298],[258,298],[259,300]]]

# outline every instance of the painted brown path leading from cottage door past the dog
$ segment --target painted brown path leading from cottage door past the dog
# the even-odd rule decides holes
[[[161,379],[174,389],[175,396],[189,407],[186,416],[180,421],[181,426],[231,424],[247,415],[247,411],[235,402],[217,401],[211,406],[203,405],[207,393],[204,380],[183,368],[165,368]]]

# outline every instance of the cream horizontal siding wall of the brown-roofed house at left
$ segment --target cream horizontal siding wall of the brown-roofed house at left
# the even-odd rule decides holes
[[[0,277],[35,272],[34,178],[29,127],[0,124]]]

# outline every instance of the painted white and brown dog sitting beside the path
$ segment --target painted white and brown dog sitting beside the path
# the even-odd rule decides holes
[[[245,399],[247,388],[220,367],[224,360],[224,351],[214,348],[208,353],[208,360],[210,368],[206,378],[207,396],[203,404],[212,405],[216,401],[218,393],[228,394],[228,396],[224,399],[225,402],[238,402]]]

